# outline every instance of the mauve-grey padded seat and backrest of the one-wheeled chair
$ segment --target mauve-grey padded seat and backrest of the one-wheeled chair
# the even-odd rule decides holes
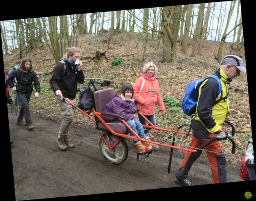
[[[95,100],[95,110],[97,112],[102,112],[105,105],[110,102],[114,96],[114,89],[113,88],[107,88],[104,90],[99,90],[94,92],[94,100]],[[123,123],[108,123],[108,125],[118,133],[126,133],[128,132],[127,127]],[[101,123],[101,121],[98,121],[98,127],[101,129],[107,129],[108,128]]]

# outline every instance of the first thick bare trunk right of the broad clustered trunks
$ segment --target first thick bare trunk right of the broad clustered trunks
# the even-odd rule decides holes
[[[188,50],[188,39],[189,39],[188,35],[190,31],[190,26],[191,26],[191,16],[193,12],[193,7],[194,7],[193,4],[189,5],[189,10],[186,15],[185,30],[184,30],[184,36],[183,36],[182,46],[181,46],[181,51],[183,52],[183,54],[187,54],[187,50]]]

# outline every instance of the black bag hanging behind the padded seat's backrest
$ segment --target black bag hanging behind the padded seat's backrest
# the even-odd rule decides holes
[[[83,111],[91,110],[94,107],[94,94],[90,87],[80,89],[78,107]]]

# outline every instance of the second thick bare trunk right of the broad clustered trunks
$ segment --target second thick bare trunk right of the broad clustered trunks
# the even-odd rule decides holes
[[[198,10],[198,18],[196,21],[196,30],[194,32],[193,48],[192,48],[192,53],[191,53],[192,57],[196,56],[196,50],[198,47],[199,36],[202,31],[202,24],[203,24],[202,20],[204,18],[204,7],[205,7],[205,3],[200,4],[199,10]]]

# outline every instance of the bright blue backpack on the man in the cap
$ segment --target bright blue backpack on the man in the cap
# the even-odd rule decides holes
[[[199,87],[208,78],[214,78],[215,80],[218,81],[219,83],[218,94],[222,93],[222,84],[218,76],[211,75],[205,79],[204,77],[202,77],[202,80],[195,80],[193,82],[190,82],[187,86],[185,96],[182,100],[182,109],[184,114],[191,116],[196,112],[196,104],[198,100]],[[220,100],[222,100],[222,97],[219,100],[217,100],[215,104],[218,103]]]

